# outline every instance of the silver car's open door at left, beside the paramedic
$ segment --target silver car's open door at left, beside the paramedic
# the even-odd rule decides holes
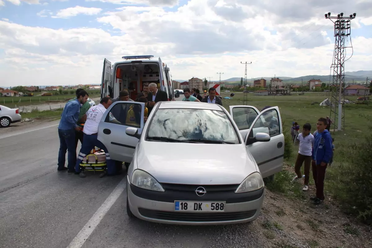
[[[140,102],[118,101],[106,110],[98,126],[98,140],[110,154],[110,158],[130,163],[139,139],[128,136],[126,128],[138,129],[142,133],[144,127],[145,104]]]

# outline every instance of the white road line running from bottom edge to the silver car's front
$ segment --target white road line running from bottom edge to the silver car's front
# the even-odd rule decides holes
[[[121,193],[126,188],[126,177],[124,177],[120,183],[116,186],[116,188],[111,192],[109,197],[105,200],[104,203],[99,207],[97,212],[94,213],[92,218],[85,224],[83,229],[76,235],[76,237],[71,241],[70,245],[67,248],[81,248],[84,242],[88,239],[88,237],[92,234],[94,229],[98,226],[99,222],[103,219],[106,215],[108,210],[112,207],[112,205],[116,202],[119,198]]]

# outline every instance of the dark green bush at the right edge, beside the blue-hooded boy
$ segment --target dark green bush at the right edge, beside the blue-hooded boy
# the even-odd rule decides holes
[[[371,117],[368,117],[372,121]],[[371,123],[371,122],[370,122]],[[372,125],[369,130],[372,130]],[[344,210],[372,225],[372,133],[358,144],[337,145],[338,158],[327,169],[326,190]],[[343,159],[340,159],[343,158]],[[343,160],[343,162],[338,162]]]

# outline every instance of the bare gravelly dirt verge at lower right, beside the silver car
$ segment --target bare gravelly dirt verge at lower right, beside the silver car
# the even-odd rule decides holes
[[[308,197],[314,190],[311,186]],[[266,190],[257,223],[272,247],[372,247],[371,227],[345,215],[327,196],[318,206],[308,197],[292,200]]]

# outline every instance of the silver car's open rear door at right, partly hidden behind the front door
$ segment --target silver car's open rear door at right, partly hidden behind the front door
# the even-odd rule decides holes
[[[234,105],[230,106],[230,115],[238,126],[243,139],[247,136],[248,130],[260,111],[254,106]]]

